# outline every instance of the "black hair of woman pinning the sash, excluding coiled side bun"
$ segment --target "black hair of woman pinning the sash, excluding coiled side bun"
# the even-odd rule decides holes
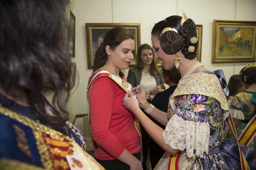
[[[194,44],[190,42],[190,38],[197,37],[196,32],[196,24],[192,19],[187,19],[183,26],[181,27],[180,21],[182,17],[181,16],[170,16],[157,24],[152,29],[151,35],[157,37],[158,40],[160,40],[160,34],[162,33],[163,29],[166,27],[175,28],[179,35],[182,36],[182,48],[181,52],[184,54],[185,58],[187,59],[193,59],[196,58],[197,55],[197,48],[198,48],[198,41]],[[195,50],[194,52],[189,52],[188,47],[194,46]]]

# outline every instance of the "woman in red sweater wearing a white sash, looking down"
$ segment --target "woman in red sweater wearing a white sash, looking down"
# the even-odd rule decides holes
[[[132,86],[121,69],[131,64],[134,47],[134,35],[128,29],[106,32],[88,82],[94,155],[106,169],[142,169],[140,126],[123,106],[123,97]]]

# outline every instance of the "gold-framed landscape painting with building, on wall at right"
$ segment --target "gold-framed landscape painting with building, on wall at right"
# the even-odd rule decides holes
[[[214,20],[212,62],[256,61],[256,22]]]

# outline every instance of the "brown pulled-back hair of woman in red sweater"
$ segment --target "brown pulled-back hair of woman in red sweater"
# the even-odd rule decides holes
[[[116,47],[119,46],[124,40],[128,40],[128,39],[135,40],[135,37],[126,28],[116,27],[107,31],[103,38],[103,42],[101,43],[100,47],[96,51],[93,72],[98,68],[102,67],[107,61],[108,55],[105,49],[106,45],[109,45],[111,50],[115,50]],[[121,70],[119,72],[119,75],[120,77],[124,76]]]

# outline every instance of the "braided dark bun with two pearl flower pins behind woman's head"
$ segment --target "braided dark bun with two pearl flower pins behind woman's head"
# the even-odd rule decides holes
[[[192,19],[187,19],[183,26],[181,27],[181,30],[179,31],[179,35],[181,35],[182,38],[182,54],[184,54],[185,58],[187,59],[193,59],[196,58],[197,55],[197,49],[198,49],[198,41],[196,43],[192,43],[190,41],[190,38],[196,37],[197,38],[197,32],[196,32],[196,24]],[[189,46],[195,47],[193,52],[189,51]]]

